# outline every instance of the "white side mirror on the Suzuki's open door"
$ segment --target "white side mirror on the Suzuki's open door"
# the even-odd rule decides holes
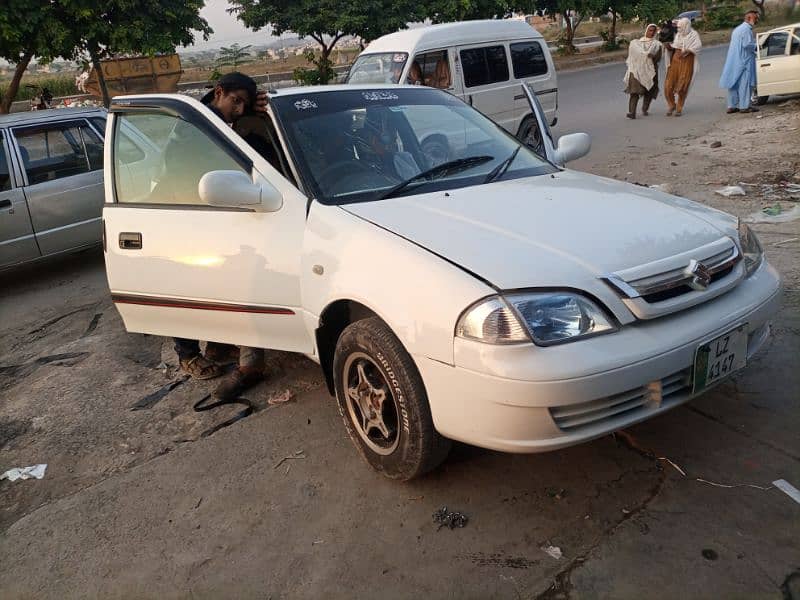
[[[283,196],[266,181],[253,183],[241,171],[209,171],[198,184],[200,199],[210,206],[258,206],[275,212],[283,206]]]

